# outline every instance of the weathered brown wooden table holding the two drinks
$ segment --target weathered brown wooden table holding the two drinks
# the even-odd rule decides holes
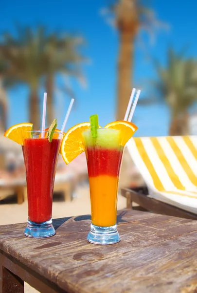
[[[118,213],[121,242],[86,241],[90,216],[54,220],[57,234],[23,236],[0,226],[0,293],[195,293],[197,221],[135,210]]]

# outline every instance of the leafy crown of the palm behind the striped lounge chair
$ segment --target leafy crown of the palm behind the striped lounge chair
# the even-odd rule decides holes
[[[197,61],[186,59],[184,52],[170,47],[165,67],[154,61],[158,78],[151,84],[174,113],[184,112],[197,101]]]

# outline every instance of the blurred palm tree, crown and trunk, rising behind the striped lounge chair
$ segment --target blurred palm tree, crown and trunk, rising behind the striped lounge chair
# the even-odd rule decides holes
[[[166,67],[155,62],[159,79],[153,85],[170,107],[169,135],[188,134],[188,109],[197,102],[197,61],[184,59],[172,48],[167,59]]]

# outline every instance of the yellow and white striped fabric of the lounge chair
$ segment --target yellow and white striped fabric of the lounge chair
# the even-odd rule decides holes
[[[151,197],[197,213],[197,136],[137,137],[126,146]]]

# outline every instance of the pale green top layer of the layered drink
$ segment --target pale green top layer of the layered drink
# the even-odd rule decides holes
[[[99,128],[97,129],[97,138],[92,138],[90,130],[84,131],[82,135],[86,141],[86,146],[120,147],[120,130]]]

